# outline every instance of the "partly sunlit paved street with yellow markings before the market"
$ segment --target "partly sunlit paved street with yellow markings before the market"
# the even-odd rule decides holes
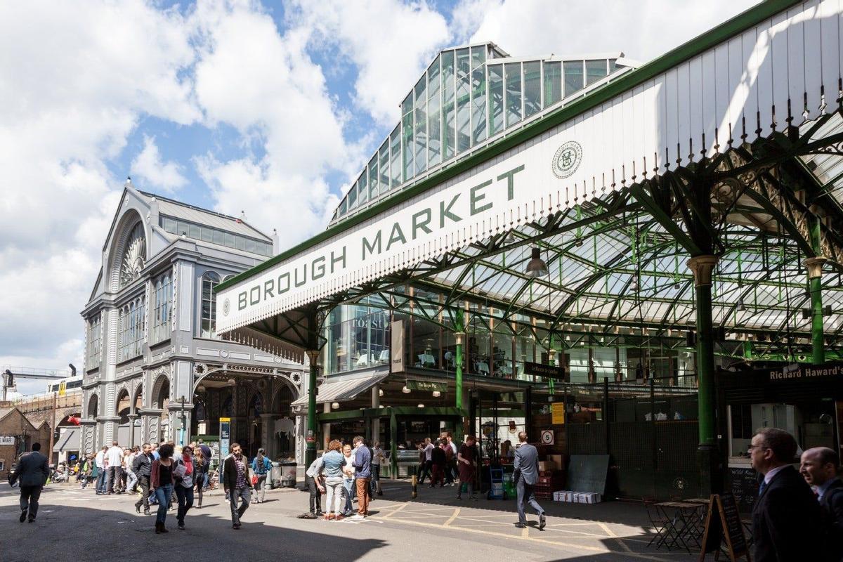
[[[456,488],[420,486],[411,498],[405,481],[385,481],[384,495],[370,506],[362,522],[298,519],[309,495],[295,489],[271,490],[266,501],[252,504],[243,527],[231,528],[230,511],[219,492],[206,493],[201,509],[191,510],[185,531],[176,530],[169,511],[170,533],[154,533],[154,517],[135,513],[135,495],[95,495],[89,487],[50,484],[41,495],[38,519],[20,523],[19,489],[0,484],[0,562],[120,560],[149,562],[173,559],[262,559],[343,562],[419,559],[588,562],[696,559],[685,550],[647,547],[652,528],[643,506],[607,502],[595,505],[540,502],[547,527],[537,517],[531,526],[515,527],[514,500],[457,500]],[[324,498],[323,498],[324,499]],[[153,506],[154,507],[154,506]],[[153,510],[154,514],[154,510]]]

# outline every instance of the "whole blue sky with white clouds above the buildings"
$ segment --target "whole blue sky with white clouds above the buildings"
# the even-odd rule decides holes
[[[81,368],[126,175],[285,248],[325,227],[439,49],[647,62],[753,3],[0,3],[0,366]]]

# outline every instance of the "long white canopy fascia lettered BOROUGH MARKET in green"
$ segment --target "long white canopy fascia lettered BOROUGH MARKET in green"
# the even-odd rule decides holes
[[[690,56],[218,293],[217,331],[271,318],[577,206],[634,178],[710,157],[753,140],[756,129],[769,136],[774,126],[781,131],[787,125],[788,100],[796,100],[797,120],[803,107],[808,119],[818,117],[824,104],[833,110],[839,20],[836,0],[801,3]]]

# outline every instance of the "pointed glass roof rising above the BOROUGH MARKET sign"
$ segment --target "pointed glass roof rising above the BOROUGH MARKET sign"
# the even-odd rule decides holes
[[[631,68],[620,52],[516,59],[493,43],[439,52],[329,227]]]

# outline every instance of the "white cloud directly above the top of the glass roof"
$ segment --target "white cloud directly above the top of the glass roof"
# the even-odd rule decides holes
[[[755,3],[642,0],[597,6],[584,0],[464,0],[454,8],[453,25],[457,35],[471,42],[493,41],[512,56],[623,51],[647,62]]]

